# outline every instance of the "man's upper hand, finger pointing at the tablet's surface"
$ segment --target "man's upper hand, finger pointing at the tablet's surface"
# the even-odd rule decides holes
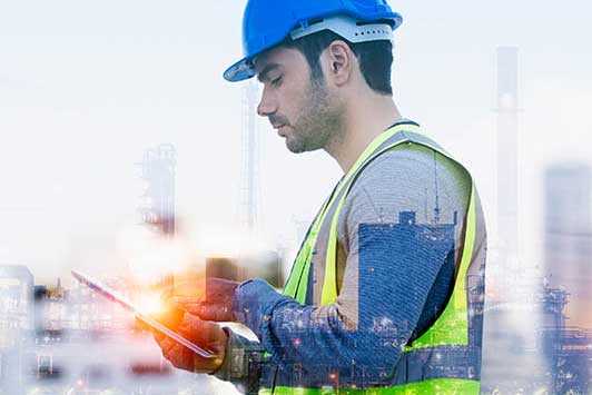
[[[233,314],[233,297],[237,282],[224,278],[208,278],[206,280],[206,300],[177,298],[179,308],[199,316],[201,319],[216,322],[235,322]]]

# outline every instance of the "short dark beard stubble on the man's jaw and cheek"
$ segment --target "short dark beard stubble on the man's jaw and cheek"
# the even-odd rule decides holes
[[[343,110],[332,98],[323,78],[310,78],[300,116],[286,136],[286,147],[294,154],[314,151],[327,147],[343,131]]]

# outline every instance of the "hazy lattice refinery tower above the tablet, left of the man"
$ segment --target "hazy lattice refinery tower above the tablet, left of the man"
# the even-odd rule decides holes
[[[175,169],[177,151],[164,144],[144,154],[141,178],[148,187],[139,211],[144,224],[166,237],[175,235]]]

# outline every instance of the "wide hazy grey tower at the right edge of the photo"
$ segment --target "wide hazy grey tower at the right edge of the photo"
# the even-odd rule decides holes
[[[592,171],[553,165],[544,175],[545,271],[552,287],[571,295],[570,325],[592,328]]]

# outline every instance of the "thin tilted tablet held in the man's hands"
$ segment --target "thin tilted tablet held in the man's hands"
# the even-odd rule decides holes
[[[72,276],[80,282],[81,284],[85,284],[93,292],[102,295],[103,297],[108,298],[111,302],[115,302],[122,306],[125,309],[131,312],[136,318],[140,319],[151,328],[160,332],[161,334],[170,337],[175,342],[184,345],[185,347],[189,348],[197,355],[204,357],[204,358],[214,358],[216,357],[211,352],[206,350],[198,346],[197,344],[188,340],[187,338],[182,337],[178,333],[169,329],[165,325],[160,324],[154,318],[150,318],[148,315],[142,314],[128,298],[126,298],[124,295],[119,294],[117,290],[101,284],[100,282],[93,279],[92,277],[85,275],[78,270],[72,270]]]

